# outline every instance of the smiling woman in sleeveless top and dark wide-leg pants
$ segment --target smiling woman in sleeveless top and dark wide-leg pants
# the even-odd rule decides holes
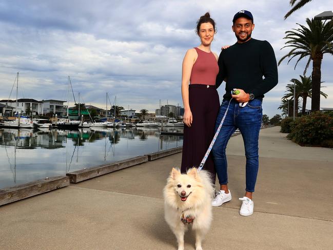
[[[197,22],[197,34],[201,44],[189,49],[183,60],[182,97],[185,125],[182,172],[200,165],[214,136],[215,120],[220,107],[219,94],[215,87],[219,73],[218,55],[210,50],[215,33],[215,22],[207,12]],[[211,173],[212,182],[215,184],[216,171],[212,156],[208,157],[204,169]]]

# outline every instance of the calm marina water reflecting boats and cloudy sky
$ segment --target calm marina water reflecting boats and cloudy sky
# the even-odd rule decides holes
[[[70,131],[2,128],[0,188],[182,146],[182,136],[160,136],[160,130],[94,128]],[[182,132],[183,128],[164,130]]]

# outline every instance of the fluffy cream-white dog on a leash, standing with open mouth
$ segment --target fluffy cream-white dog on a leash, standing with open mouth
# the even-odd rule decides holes
[[[189,224],[195,230],[195,249],[202,250],[201,242],[212,220],[211,199],[214,191],[207,171],[191,168],[187,174],[172,168],[164,187],[165,220],[177,238],[178,250],[184,249],[184,234]]]

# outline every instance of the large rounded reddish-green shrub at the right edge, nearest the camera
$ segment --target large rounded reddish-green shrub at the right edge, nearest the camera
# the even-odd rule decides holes
[[[300,145],[329,147],[333,140],[333,117],[312,112],[297,119],[287,137]]]

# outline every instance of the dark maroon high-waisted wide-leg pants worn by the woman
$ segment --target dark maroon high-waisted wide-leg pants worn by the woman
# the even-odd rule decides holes
[[[208,86],[208,87],[207,87]],[[190,84],[189,104],[193,122],[191,127],[184,125],[182,173],[188,168],[198,167],[214,136],[215,121],[220,108],[220,99],[213,85]],[[210,153],[204,168],[211,174],[215,184],[216,171]]]

